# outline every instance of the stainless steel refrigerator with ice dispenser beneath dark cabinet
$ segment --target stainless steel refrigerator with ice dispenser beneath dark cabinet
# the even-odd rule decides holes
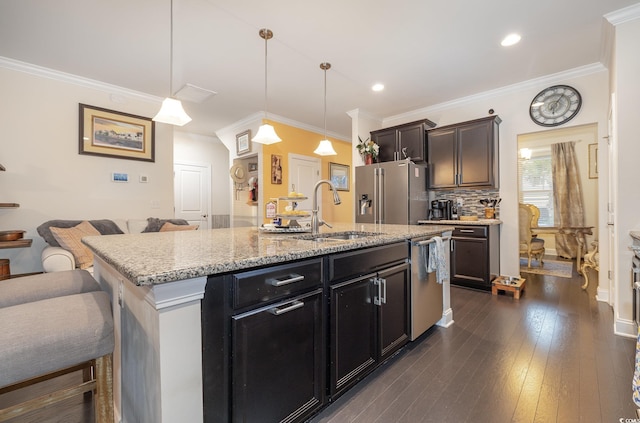
[[[406,161],[356,167],[356,222],[415,225],[429,209],[427,166]]]

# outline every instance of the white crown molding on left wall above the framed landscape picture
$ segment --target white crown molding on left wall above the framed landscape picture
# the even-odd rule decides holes
[[[129,90],[117,85],[107,84],[105,82],[96,81],[94,79],[84,78],[70,73],[37,66],[31,63],[21,62],[19,60],[9,59],[2,56],[0,56],[0,68],[28,73],[30,75],[38,76],[41,78],[53,79],[68,84],[79,85],[81,87],[107,92],[114,97],[115,101],[118,101],[118,96],[133,97],[138,100],[147,101],[149,103],[162,103],[163,100],[163,98],[155,95],[145,94],[140,91]]]

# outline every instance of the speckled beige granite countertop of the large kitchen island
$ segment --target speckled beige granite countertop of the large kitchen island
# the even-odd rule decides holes
[[[433,223],[433,222],[430,222]],[[359,231],[375,235],[354,240],[298,239],[309,233],[265,233],[257,228],[89,236],[93,253],[136,285],[155,285],[250,269],[453,230],[438,225],[334,224],[320,234]]]

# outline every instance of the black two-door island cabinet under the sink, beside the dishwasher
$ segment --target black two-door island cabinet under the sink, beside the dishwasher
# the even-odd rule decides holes
[[[408,342],[407,261],[405,243],[330,257],[335,280],[329,286],[332,399]]]

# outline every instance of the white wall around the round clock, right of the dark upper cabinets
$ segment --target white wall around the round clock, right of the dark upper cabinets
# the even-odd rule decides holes
[[[384,120],[383,127],[419,119],[430,119],[438,126],[488,116],[489,109],[502,119],[500,124],[500,217],[504,222],[500,236],[500,271],[519,273],[518,254],[518,135],[544,130],[529,117],[532,98],[542,89],[555,84],[576,88],[583,98],[582,109],[564,127],[597,124],[598,139],[606,136],[608,105],[608,72],[600,65],[587,66],[505,87],[446,104],[417,110]],[[354,142],[356,142],[354,140]],[[599,141],[600,143],[601,141]]]

